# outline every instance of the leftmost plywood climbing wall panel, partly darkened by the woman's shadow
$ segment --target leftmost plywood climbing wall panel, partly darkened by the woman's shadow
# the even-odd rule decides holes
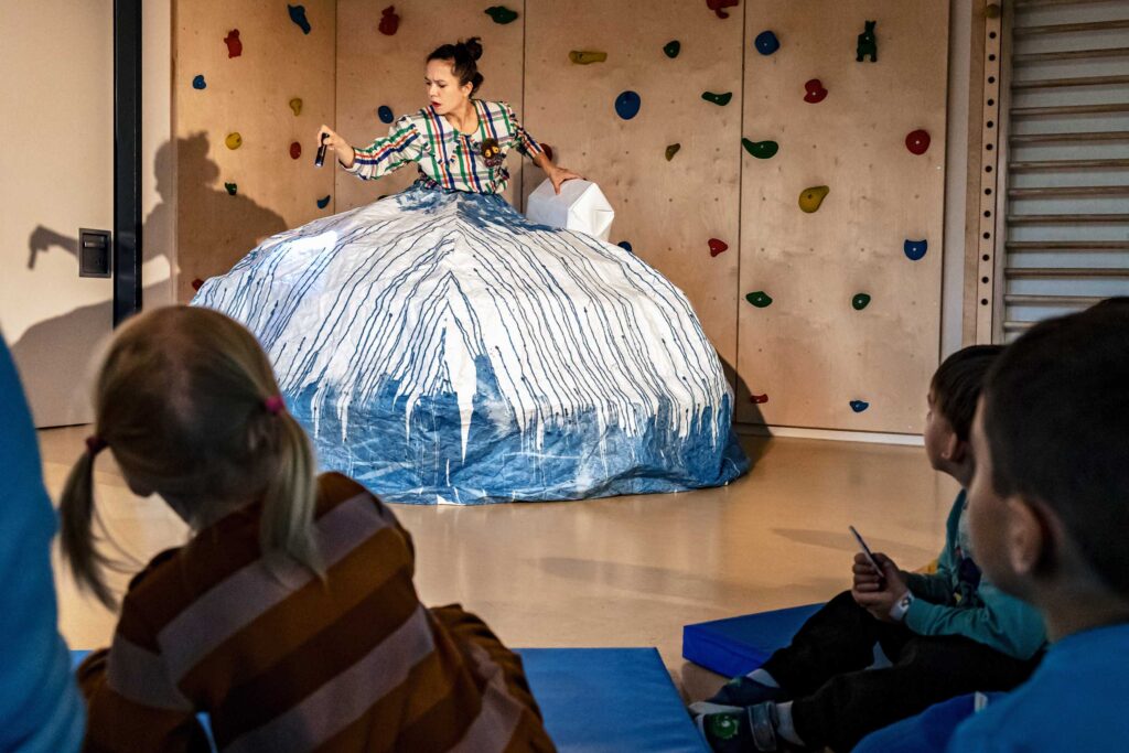
[[[333,117],[335,8],[177,1],[176,196],[158,191],[176,205],[181,300],[261,238],[334,211],[314,154]]]

